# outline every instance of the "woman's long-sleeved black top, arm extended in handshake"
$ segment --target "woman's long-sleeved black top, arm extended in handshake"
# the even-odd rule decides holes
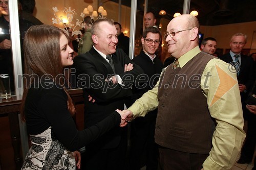
[[[96,125],[78,131],[68,110],[65,90],[51,85],[48,88],[41,82],[38,88],[33,85],[28,91],[25,115],[30,134],[42,133],[51,126],[57,139],[69,151],[75,151],[120,124],[120,114],[113,112]]]

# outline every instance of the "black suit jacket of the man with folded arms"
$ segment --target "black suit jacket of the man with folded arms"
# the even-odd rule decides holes
[[[73,68],[76,69],[78,87],[83,88],[84,96],[84,126],[90,127],[100,122],[116,109],[123,110],[125,99],[130,99],[132,90],[129,84],[143,70],[136,65],[121,49],[116,49],[112,54],[116,74],[124,82],[125,87],[120,84],[109,84],[106,78],[114,72],[110,64],[94,49],[91,48],[86,54],[78,55],[74,58]],[[124,72],[125,64],[133,64],[131,71]],[[88,101],[88,95],[96,100],[95,103]],[[100,137],[92,145],[97,148],[115,148],[120,142],[122,130],[116,127]]]

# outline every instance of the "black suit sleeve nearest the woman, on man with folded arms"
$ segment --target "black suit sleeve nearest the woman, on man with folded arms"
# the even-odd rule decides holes
[[[73,68],[76,69],[76,83],[78,88],[86,88],[86,91],[96,102],[108,102],[113,99],[123,98],[132,94],[128,88],[120,84],[110,84],[105,81],[107,74],[100,72],[99,61],[93,61],[89,52],[74,58]],[[103,66],[103,65],[102,65]]]

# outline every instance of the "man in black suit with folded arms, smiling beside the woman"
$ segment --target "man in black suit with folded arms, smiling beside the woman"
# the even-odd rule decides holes
[[[84,126],[90,127],[116,109],[132,95],[131,85],[143,70],[123,52],[116,49],[117,31],[113,21],[98,19],[93,23],[93,47],[74,58],[77,86],[83,88]],[[112,67],[113,66],[113,67]],[[120,169],[126,151],[125,129],[109,131],[88,145],[82,167],[85,169]]]

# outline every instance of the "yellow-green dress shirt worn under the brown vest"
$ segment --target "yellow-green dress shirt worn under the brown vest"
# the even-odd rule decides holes
[[[200,53],[196,46],[178,61],[180,67]],[[240,92],[236,72],[228,63],[220,59],[211,59],[201,78],[202,93],[207,98],[211,117],[216,119],[216,129],[212,136],[212,149],[203,163],[204,170],[230,169],[240,157],[240,151],[245,139],[243,131],[244,120]],[[164,70],[162,71],[163,74]],[[161,76],[162,76],[161,74]],[[134,117],[145,116],[149,111],[158,107],[158,86],[147,91],[128,110]],[[181,107],[184,104],[181,104]],[[185,120],[184,120],[185,121]]]

